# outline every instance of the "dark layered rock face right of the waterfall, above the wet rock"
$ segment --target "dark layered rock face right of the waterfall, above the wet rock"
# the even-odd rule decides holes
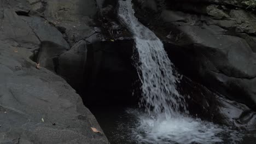
[[[245,1],[166,1],[155,14],[160,19],[147,20],[143,10],[137,15],[183,74],[255,109],[256,15],[247,7]]]

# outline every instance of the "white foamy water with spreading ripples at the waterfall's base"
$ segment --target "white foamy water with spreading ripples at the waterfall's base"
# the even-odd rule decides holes
[[[146,113],[134,109],[126,111],[131,117],[136,116],[135,125],[127,124],[131,128],[133,138],[137,143],[143,144],[188,144],[188,143],[240,143],[242,134],[228,127],[223,127],[211,122],[201,121],[188,116],[165,119],[154,118]],[[161,115],[159,115],[161,117]]]

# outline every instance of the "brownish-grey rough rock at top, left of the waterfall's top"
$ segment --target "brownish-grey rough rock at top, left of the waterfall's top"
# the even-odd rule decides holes
[[[97,14],[97,3],[93,0],[47,1],[44,15],[48,21],[62,29],[73,46],[95,33],[91,25]]]

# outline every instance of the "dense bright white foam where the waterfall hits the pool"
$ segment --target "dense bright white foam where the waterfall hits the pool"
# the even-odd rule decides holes
[[[170,142],[204,144],[223,142],[216,134],[224,131],[213,123],[188,117],[171,118],[163,121],[141,117],[141,125],[138,130],[144,131],[144,134],[136,136],[139,142],[162,144]]]

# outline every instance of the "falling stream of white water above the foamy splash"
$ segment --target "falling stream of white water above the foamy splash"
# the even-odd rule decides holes
[[[173,74],[173,64],[161,40],[134,14],[131,0],[119,1],[119,19],[133,33],[139,55],[140,104],[153,115],[164,113],[166,118],[176,116],[181,108],[185,109],[185,104],[176,88],[178,79]]]

